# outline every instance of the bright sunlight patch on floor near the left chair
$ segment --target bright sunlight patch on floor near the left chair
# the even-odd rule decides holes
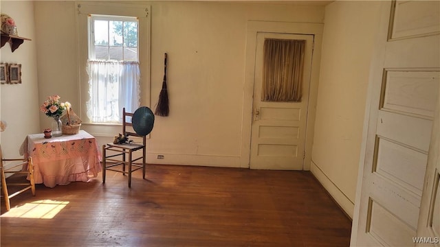
[[[21,217],[34,219],[52,219],[69,202],[60,202],[55,200],[38,200],[29,202],[19,207],[14,207],[10,211],[3,213],[1,217]]]

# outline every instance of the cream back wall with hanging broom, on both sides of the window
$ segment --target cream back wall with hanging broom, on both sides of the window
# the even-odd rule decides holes
[[[322,23],[322,5],[153,1],[151,4],[151,102],[162,86],[168,53],[170,116],[156,117],[148,140],[149,163],[239,167],[243,121],[247,21]],[[76,5],[73,1],[36,1],[39,43],[39,99],[57,93],[78,102]],[[47,23],[52,23],[50,26]],[[41,125],[49,124],[40,115]],[[248,123],[245,123],[248,124]],[[106,126],[82,128],[96,134]],[[101,137],[99,141],[110,141]],[[164,160],[157,160],[164,154]]]

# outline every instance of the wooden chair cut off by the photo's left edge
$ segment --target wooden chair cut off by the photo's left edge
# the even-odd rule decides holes
[[[12,162],[11,167],[5,168],[6,162]],[[23,170],[23,165],[27,165],[27,169]],[[0,171],[1,171],[1,190],[3,191],[3,198],[5,198],[6,210],[9,211],[10,198],[19,195],[20,193],[30,189],[32,191],[32,196],[35,196],[35,181],[34,181],[34,165],[32,164],[32,157],[28,158],[3,158],[1,155],[0,147]],[[19,182],[7,182],[5,174],[25,174],[29,175],[30,181],[25,180],[22,183]],[[9,194],[8,186],[19,186],[23,187],[17,192]]]

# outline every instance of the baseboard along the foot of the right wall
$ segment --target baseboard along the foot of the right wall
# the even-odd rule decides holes
[[[314,161],[311,161],[310,171],[339,207],[353,220],[354,203],[322,172]]]

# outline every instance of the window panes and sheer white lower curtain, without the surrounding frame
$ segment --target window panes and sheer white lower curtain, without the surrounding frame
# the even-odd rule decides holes
[[[92,123],[122,122],[122,108],[140,105],[138,22],[135,17],[89,16],[89,101]]]

